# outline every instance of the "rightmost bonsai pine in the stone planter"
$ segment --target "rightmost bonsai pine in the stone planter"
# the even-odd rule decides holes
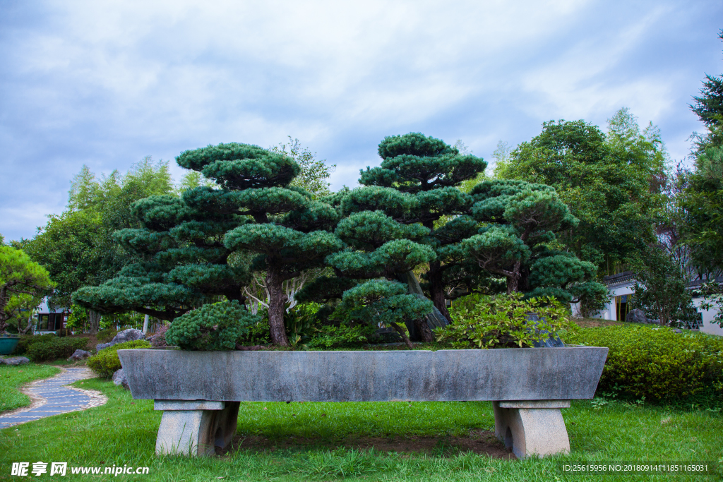
[[[556,233],[577,220],[555,189],[525,181],[484,181],[471,191],[472,215],[483,227],[462,242],[482,269],[507,280],[507,293],[555,296],[577,302],[581,296],[604,296],[596,267],[558,249]]]

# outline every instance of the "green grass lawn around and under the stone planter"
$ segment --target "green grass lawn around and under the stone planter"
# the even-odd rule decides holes
[[[0,431],[0,479],[9,478],[11,462],[42,460],[148,466],[149,475],[116,477],[143,481],[660,481],[659,475],[565,475],[557,464],[718,461],[723,456],[719,412],[581,401],[562,410],[572,455],[544,460],[502,460],[456,449],[466,440],[499,450],[481,432],[494,426],[492,405],[476,402],[242,403],[240,449],[208,458],[155,457],[161,413],[153,411],[152,401],[132,400],[129,392],[100,379],[76,385],[106,393],[108,403]],[[385,448],[427,445],[411,454],[357,448],[370,441]],[[669,478],[719,480],[720,475]]]

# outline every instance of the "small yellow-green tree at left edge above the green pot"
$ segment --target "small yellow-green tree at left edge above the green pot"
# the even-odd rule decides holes
[[[48,272],[20,249],[0,246],[0,333],[17,309],[37,306],[54,288]]]

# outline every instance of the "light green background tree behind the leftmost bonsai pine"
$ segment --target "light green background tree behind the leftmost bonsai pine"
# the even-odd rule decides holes
[[[114,171],[97,178],[84,165],[72,181],[67,210],[51,215],[33,239],[19,243],[56,280],[48,302],[70,306],[74,291],[100,285],[133,262],[133,252],[116,243],[114,232],[140,227],[132,213],[134,202],[173,192],[168,163],[153,163],[150,157],[133,165],[125,176]],[[100,312],[90,310],[88,319],[90,331],[97,332]]]

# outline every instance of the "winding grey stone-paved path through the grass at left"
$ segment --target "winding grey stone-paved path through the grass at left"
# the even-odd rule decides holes
[[[38,420],[38,418],[58,415],[59,413],[85,410],[106,403],[106,397],[99,392],[64,386],[77,382],[77,380],[95,376],[93,371],[86,368],[62,370],[61,374],[57,374],[52,378],[36,380],[27,385],[25,390],[22,391],[33,398],[33,403],[28,407],[19,408],[0,416],[0,429]]]

